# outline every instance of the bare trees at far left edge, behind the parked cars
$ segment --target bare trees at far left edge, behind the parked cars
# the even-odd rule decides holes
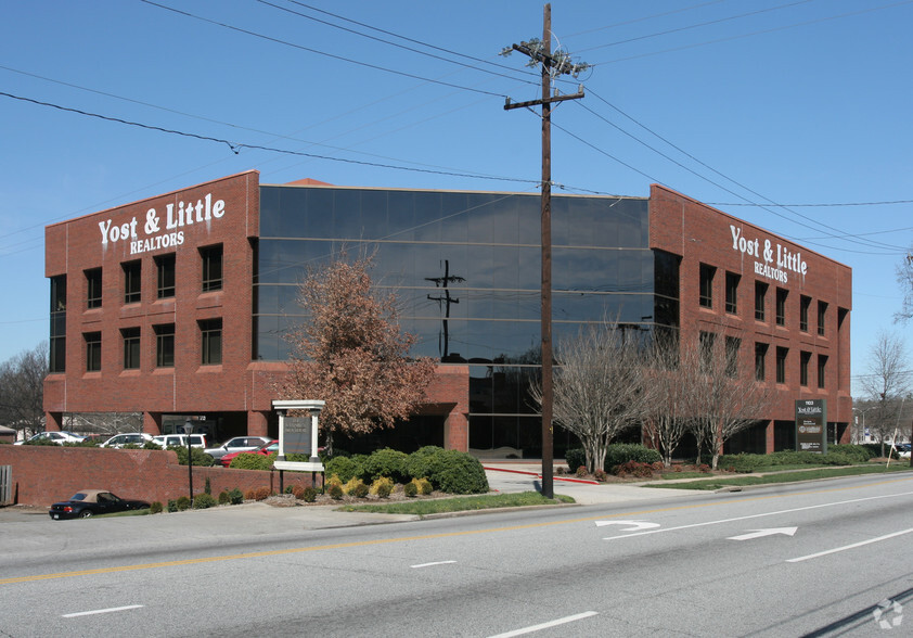
[[[25,435],[44,429],[48,342],[0,363],[0,423]]]

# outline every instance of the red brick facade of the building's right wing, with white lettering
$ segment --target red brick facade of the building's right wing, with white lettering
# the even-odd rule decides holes
[[[766,382],[777,397],[771,420],[794,421],[796,399],[827,399],[827,421],[849,423],[851,269],[657,184],[651,189],[650,216],[651,247],[681,257],[681,339],[696,340],[700,331],[741,339],[740,365],[747,369],[755,366],[755,344],[767,344]],[[710,307],[699,303],[702,265],[716,269]],[[738,277],[734,312],[726,309],[726,273]],[[768,286],[762,320],[756,319],[756,282]],[[777,289],[785,294],[782,326],[776,318]],[[808,316],[800,326],[803,297]],[[823,334],[819,303],[826,304]],[[786,354],[784,383],[776,382],[777,348]],[[809,358],[805,385],[802,353]],[[819,357],[826,357],[822,382]],[[848,437],[849,430],[845,443]],[[767,448],[773,449],[772,424],[767,429]]]

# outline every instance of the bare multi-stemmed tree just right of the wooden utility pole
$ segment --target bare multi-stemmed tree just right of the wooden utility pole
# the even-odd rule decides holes
[[[556,348],[552,414],[580,439],[590,472],[603,469],[613,438],[643,414],[641,333],[622,328],[590,324]],[[540,385],[530,396],[541,408]]]

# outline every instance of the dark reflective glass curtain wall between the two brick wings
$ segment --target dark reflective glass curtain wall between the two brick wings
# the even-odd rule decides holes
[[[602,319],[652,331],[659,308],[647,210],[645,199],[553,197],[556,346]],[[399,297],[402,329],[419,335],[412,354],[470,366],[470,447],[536,456],[541,421],[527,388],[540,363],[539,218],[538,194],[261,186],[255,356],[287,359],[284,335],[305,319],[297,286],[308,267],[343,248],[365,251],[375,284]],[[665,278],[677,270],[669,261]],[[660,312],[677,326],[677,282],[663,292],[671,288],[676,299]]]

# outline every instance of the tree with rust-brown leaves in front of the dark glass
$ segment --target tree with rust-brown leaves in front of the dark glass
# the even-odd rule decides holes
[[[400,331],[397,297],[371,279],[372,258],[346,253],[311,269],[298,291],[308,319],[290,337],[285,398],[323,399],[320,424],[332,455],[333,433],[363,434],[409,418],[425,397],[434,362],[412,359],[415,336]]]

